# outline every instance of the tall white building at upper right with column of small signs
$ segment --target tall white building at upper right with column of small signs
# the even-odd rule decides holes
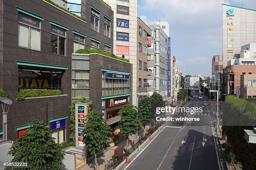
[[[241,46],[256,43],[256,10],[222,4],[223,68],[229,59],[238,58]]]

